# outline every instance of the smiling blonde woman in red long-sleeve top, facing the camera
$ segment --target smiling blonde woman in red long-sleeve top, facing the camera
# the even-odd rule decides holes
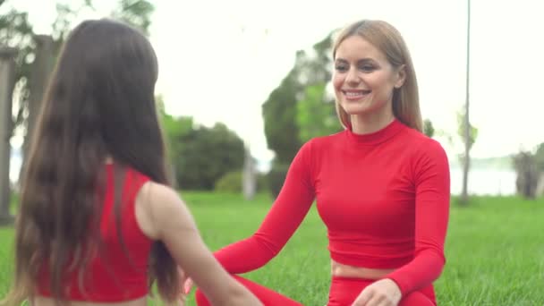
[[[404,39],[385,21],[358,21],[339,34],[333,58],[344,132],[305,143],[257,232],[216,258],[233,274],[262,267],[317,200],[332,266],[327,305],[435,305],[432,283],[445,264],[449,167],[440,144],[421,133]],[[299,305],[237,278],[266,305]],[[199,305],[208,304],[205,295],[197,292]]]

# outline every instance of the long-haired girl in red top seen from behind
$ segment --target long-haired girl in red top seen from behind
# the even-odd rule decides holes
[[[4,305],[179,303],[182,268],[217,305],[261,303],[221,268],[168,185],[157,57],[116,21],[84,21],[51,77],[22,179]]]

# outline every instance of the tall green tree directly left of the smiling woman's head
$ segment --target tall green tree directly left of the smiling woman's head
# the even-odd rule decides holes
[[[330,80],[331,47],[332,33],[315,44],[309,53],[302,50],[297,51],[293,68],[287,73],[280,85],[270,93],[262,106],[268,149],[276,153],[268,177],[274,196],[281,188],[288,165],[291,164],[296,152],[301,148],[302,140],[307,139],[319,126],[319,123],[310,123],[312,119],[310,116],[299,117],[298,104],[304,100],[301,108],[319,106],[312,101],[319,100],[319,92],[323,97],[324,90],[320,91],[322,89],[319,89],[319,86],[323,86],[324,89],[324,84]],[[317,87],[307,89],[310,86]],[[327,108],[325,104],[321,106]],[[319,114],[322,114],[321,112],[319,110]],[[315,121],[317,122],[319,119],[315,119]],[[301,127],[303,136],[301,136]]]

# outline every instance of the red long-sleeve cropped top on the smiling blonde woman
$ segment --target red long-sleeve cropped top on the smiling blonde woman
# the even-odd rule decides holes
[[[260,268],[317,200],[332,259],[395,268],[384,278],[411,293],[444,267],[449,199],[449,166],[438,141],[397,120],[370,134],[346,130],[305,143],[257,232],[216,257],[233,274]]]

